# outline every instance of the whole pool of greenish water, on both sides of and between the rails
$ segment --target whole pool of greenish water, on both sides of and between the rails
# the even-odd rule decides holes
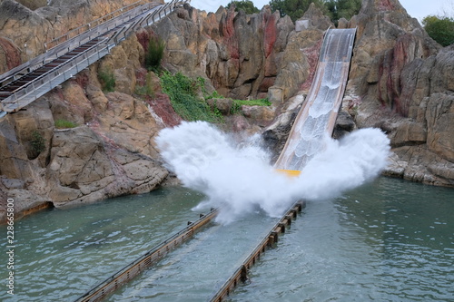
[[[72,301],[169,234],[198,219],[204,199],[181,187],[49,209],[15,221],[15,296]],[[257,210],[212,223],[110,297],[111,301],[204,301],[276,219]],[[291,229],[252,267],[232,301],[454,300],[454,190],[379,178],[340,198],[309,201]]]

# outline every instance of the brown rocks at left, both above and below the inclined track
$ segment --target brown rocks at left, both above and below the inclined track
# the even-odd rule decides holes
[[[31,12],[8,0],[1,5],[14,6],[11,8],[14,12],[27,12],[17,15],[22,26],[37,22],[44,29],[49,26],[47,19],[34,20],[48,10],[56,10],[53,7]],[[104,2],[86,6],[86,2],[71,6],[76,21],[65,19],[69,22],[66,28],[91,21],[89,16],[93,19],[106,15],[120,7],[121,2],[107,5],[104,11]],[[57,11],[62,13],[62,9]],[[70,7],[65,6],[63,13],[69,14],[68,10]],[[91,13],[85,14],[86,10]],[[6,12],[2,9],[2,17]],[[78,14],[84,15],[84,19],[77,19]],[[17,52],[17,44],[22,42],[8,35],[19,25],[14,18],[6,19],[0,33],[2,42],[6,41],[1,45],[8,58]],[[53,34],[59,34],[57,28]],[[25,33],[26,28],[21,31]],[[38,28],[36,31],[41,32]],[[44,30],[35,38],[43,41],[45,33]],[[40,46],[32,48],[33,43],[26,41],[31,53],[42,51]],[[2,67],[10,69],[17,63],[20,60],[13,64],[7,61]],[[78,73],[74,80],[63,83],[25,110],[9,114],[0,121],[0,220],[5,219],[4,196],[15,200],[16,216],[20,217],[49,204],[66,207],[148,192],[166,180],[169,172],[158,160],[153,136],[180,120],[169,109],[172,107],[168,97],[158,90],[153,100],[133,97],[136,85],[146,82],[147,72],[141,67],[142,63],[143,46],[133,35],[100,63]],[[114,73],[116,92],[102,91],[97,77],[100,70]],[[149,77],[152,81],[156,79],[153,73]],[[165,114],[161,118],[155,112]],[[76,127],[56,129],[57,120],[73,122]]]

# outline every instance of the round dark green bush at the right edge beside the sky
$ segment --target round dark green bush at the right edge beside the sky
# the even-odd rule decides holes
[[[442,46],[454,43],[454,18],[428,15],[422,24],[429,36]]]

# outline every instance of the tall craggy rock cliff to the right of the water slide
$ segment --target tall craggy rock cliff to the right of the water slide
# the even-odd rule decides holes
[[[453,186],[454,47],[440,49],[397,0],[363,1],[353,25],[348,89],[358,127],[389,134],[388,174]]]

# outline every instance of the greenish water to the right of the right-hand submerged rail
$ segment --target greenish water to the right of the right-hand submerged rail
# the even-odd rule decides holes
[[[380,178],[309,202],[231,300],[452,301],[452,200],[452,189]]]

